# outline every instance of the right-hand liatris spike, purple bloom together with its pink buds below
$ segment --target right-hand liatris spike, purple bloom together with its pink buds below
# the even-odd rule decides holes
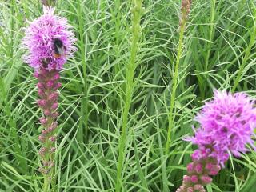
[[[229,152],[239,156],[247,151],[247,144],[254,148],[256,110],[246,94],[215,90],[214,99],[206,102],[196,120],[201,128],[188,140],[198,145],[198,150],[191,155],[193,162],[187,166],[188,175],[177,192],[206,191],[203,186],[212,181],[210,176],[218,174]]]

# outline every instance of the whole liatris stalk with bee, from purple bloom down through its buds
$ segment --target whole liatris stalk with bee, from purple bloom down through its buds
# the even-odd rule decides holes
[[[24,61],[34,68],[34,77],[38,78],[38,106],[42,109],[40,123],[42,133],[38,140],[42,143],[39,155],[44,175],[43,191],[53,191],[54,156],[58,128],[58,89],[60,74],[66,59],[72,56],[75,48],[74,33],[70,30],[66,18],[54,15],[54,9],[44,7],[44,14],[30,22],[25,29],[23,46],[28,50]]]

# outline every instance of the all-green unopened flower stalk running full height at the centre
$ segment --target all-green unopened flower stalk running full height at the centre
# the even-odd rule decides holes
[[[119,192],[122,186],[122,167],[125,158],[125,146],[127,136],[127,122],[128,114],[130,110],[130,102],[134,91],[134,70],[136,68],[136,55],[138,51],[138,41],[141,34],[141,17],[143,13],[142,0],[134,0],[134,7],[131,10],[132,13],[132,41],[130,48],[130,62],[126,67],[126,101],[122,114],[122,133],[118,143],[118,170],[115,191]]]

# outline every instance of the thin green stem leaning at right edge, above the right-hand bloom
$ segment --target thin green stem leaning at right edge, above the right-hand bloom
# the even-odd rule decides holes
[[[252,4],[252,6],[254,6]],[[246,66],[246,62],[248,61],[248,58],[250,58],[250,51],[251,51],[251,48],[254,46],[254,42],[255,42],[255,39],[256,39],[256,6],[253,7],[253,20],[254,20],[254,26],[252,28],[252,30],[250,31],[250,42],[249,42],[249,45],[247,46],[247,49],[246,49],[246,54],[244,56],[244,58],[242,59],[242,64],[238,70],[238,75],[237,77],[235,78],[234,80],[234,86],[232,88],[232,93],[234,93],[234,91],[236,90],[241,78],[242,78],[242,72],[243,70],[245,69],[245,66]]]

